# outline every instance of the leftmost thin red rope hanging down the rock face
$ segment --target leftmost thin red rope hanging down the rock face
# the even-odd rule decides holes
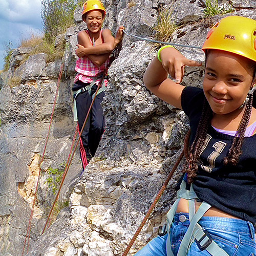
[[[31,214],[30,214],[30,218],[29,218],[29,224],[28,224],[28,228],[27,228],[26,238],[25,238],[25,242],[24,242],[24,246],[23,246],[23,250],[22,250],[22,256],[24,255],[26,243],[28,243],[28,245],[27,245],[27,253],[29,251],[29,240],[30,240],[31,224],[32,224],[32,218],[33,218],[34,207],[35,207],[35,202],[36,202],[36,193],[37,193],[38,184],[39,184],[39,177],[40,177],[40,174],[41,174],[41,167],[40,167],[40,165],[41,165],[42,161],[44,160],[45,152],[46,152],[46,146],[47,146],[47,143],[48,143],[48,140],[49,140],[49,136],[50,136],[52,120],[53,120],[53,114],[54,114],[54,109],[55,109],[55,105],[56,105],[56,102],[57,102],[58,91],[59,91],[59,84],[60,84],[60,79],[61,79],[62,71],[63,71],[63,63],[61,65],[60,69],[59,69],[57,88],[56,88],[56,93],[55,93],[55,98],[54,98],[54,103],[53,103],[53,109],[52,109],[52,115],[51,115],[51,119],[50,119],[48,134],[47,134],[47,138],[46,138],[46,142],[45,142],[45,148],[44,148],[44,152],[42,153],[41,160],[39,162],[39,174],[38,174],[38,179],[37,179],[37,183],[36,183],[35,195],[34,195],[34,200],[33,200],[32,208],[31,208]],[[27,241],[27,239],[28,239],[28,241]]]

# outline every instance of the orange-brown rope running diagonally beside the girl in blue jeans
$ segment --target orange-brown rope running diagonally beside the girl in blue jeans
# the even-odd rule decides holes
[[[129,245],[127,246],[126,250],[124,251],[124,253],[122,254],[122,256],[126,256],[128,254],[128,252],[130,251],[132,245],[134,244],[136,238],[138,237],[141,229],[143,228],[143,226],[145,225],[147,219],[150,217],[151,215],[151,212],[153,211],[153,209],[155,208],[158,200],[160,199],[160,197],[162,196],[166,186],[168,185],[170,179],[173,177],[174,173],[175,173],[175,170],[177,169],[178,165],[180,164],[180,161],[182,160],[183,156],[184,156],[184,151],[185,151],[185,156],[188,156],[188,153],[186,152],[187,148],[188,148],[188,139],[189,139],[189,136],[190,136],[190,130],[188,131],[186,137],[185,137],[185,141],[184,141],[184,149],[183,151],[181,152],[178,160],[176,161],[173,169],[172,169],[172,172],[169,173],[167,179],[165,180],[164,184],[162,185],[161,189],[159,190],[154,202],[152,203],[152,205],[150,206],[150,208],[148,209],[144,219],[142,220],[140,226],[138,227],[137,231],[135,232],[131,242],[129,243]]]

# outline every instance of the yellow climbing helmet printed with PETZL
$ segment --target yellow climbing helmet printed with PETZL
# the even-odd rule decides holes
[[[202,47],[236,53],[256,61],[256,20],[228,16],[220,20],[206,36]]]

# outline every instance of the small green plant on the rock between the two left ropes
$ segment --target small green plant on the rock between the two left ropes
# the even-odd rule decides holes
[[[65,167],[66,163],[62,163],[59,165],[59,168],[48,168],[49,177],[46,179],[45,183],[47,183],[49,188],[52,188],[52,192],[54,195],[59,188]]]

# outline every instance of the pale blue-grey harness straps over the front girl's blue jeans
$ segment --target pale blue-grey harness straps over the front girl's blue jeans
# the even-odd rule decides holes
[[[198,224],[198,221],[203,217],[205,212],[211,207],[210,204],[203,202],[195,212],[195,199],[197,195],[190,184],[190,189],[186,189],[186,182],[183,180],[180,189],[177,191],[177,200],[167,213],[167,241],[166,252],[167,256],[174,256],[172,245],[170,244],[170,227],[172,226],[174,215],[176,213],[179,201],[181,198],[188,200],[189,208],[189,227],[181,241],[177,256],[185,256],[189,250],[191,243],[196,241],[200,250],[208,251],[212,256],[229,256],[218,244],[212,240],[210,234]]]

